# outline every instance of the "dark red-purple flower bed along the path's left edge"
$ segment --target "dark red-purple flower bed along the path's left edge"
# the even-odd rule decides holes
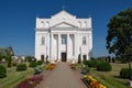
[[[34,88],[42,80],[43,75],[34,75],[21,81],[15,88]]]

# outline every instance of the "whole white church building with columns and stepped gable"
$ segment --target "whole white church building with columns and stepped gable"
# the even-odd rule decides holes
[[[92,56],[91,18],[79,19],[63,10],[50,19],[36,18],[35,58],[50,62],[90,59]]]

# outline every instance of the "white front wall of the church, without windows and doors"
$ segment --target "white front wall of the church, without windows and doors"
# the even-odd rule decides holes
[[[91,18],[88,19],[77,19],[75,15],[66,11],[61,11],[57,14],[53,15],[51,19],[40,19],[36,18],[35,26],[35,57],[41,59],[43,54],[48,57],[51,56],[51,36],[50,33],[54,34],[69,34],[68,47],[68,58],[73,58],[73,51],[75,58],[78,58],[78,55],[81,52],[81,58],[84,54],[87,54],[87,59],[91,56],[92,51],[92,29],[91,29]],[[76,42],[75,37],[72,37],[72,34],[77,34]],[[45,45],[41,44],[42,36],[45,36]],[[82,45],[82,36],[87,37],[87,45]],[[62,42],[62,41],[61,41]],[[53,48],[52,48],[52,58],[58,57],[58,36],[53,38]],[[75,47],[76,45],[76,47]],[[66,45],[61,43],[61,53],[67,51]],[[47,48],[47,50],[46,50]],[[74,50],[73,50],[74,48]],[[81,48],[81,50],[80,50]],[[61,54],[59,54],[61,55]]]

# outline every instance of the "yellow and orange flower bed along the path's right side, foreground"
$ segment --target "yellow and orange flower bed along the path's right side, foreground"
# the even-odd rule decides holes
[[[85,75],[82,77],[84,82],[88,86],[88,88],[107,88],[99,81],[97,81],[92,76],[90,75]]]

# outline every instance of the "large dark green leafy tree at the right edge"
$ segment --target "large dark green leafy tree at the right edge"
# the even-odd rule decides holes
[[[107,50],[116,56],[127,59],[132,57],[132,8],[119,12],[108,24]]]

